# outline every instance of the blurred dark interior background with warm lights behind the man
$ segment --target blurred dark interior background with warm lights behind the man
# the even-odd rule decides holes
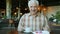
[[[21,16],[29,12],[29,0],[0,0],[0,33],[17,30]],[[60,0],[38,0],[38,10],[44,10],[53,34],[60,33]],[[43,8],[41,8],[43,7]],[[4,33],[3,33],[4,32]]]

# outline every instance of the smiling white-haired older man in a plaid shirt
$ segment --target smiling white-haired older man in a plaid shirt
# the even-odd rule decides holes
[[[38,30],[49,31],[48,21],[46,17],[38,11],[39,2],[37,0],[30,0],[28,7],[30,12],[24,14],[18,25],[18,31],[25,30],[26,27],[30,27],[32,32]]]

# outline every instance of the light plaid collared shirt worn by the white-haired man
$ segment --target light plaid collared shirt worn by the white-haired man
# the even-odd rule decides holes
[[[38,13],[32,16],[30,13],[24,14],[18,25],[18,31],[22,31],[26,27],[31,27],[32,31],[47,30],[49,31],[48,21],[44,15]]]

